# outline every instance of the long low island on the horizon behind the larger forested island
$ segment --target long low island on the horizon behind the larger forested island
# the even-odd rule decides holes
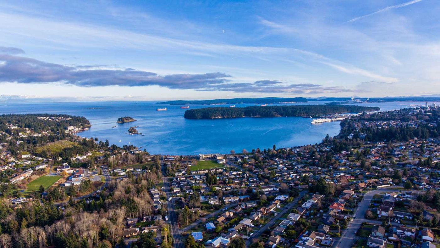
[[[212,105],[212,104],[283,104],[283,103],[306,103],[304,97],[262,97],[262,98],[232,98],[213,100],[176,100],[160,102],[158,104],[170,105]]]

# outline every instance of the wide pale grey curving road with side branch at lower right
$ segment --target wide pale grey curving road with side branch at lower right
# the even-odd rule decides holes
[[[353,241],[356,237],[356,232],[360,228],[362,222],[381,225],[382,222],[380,221],[367,220],[365,218],[365,212],[367,212],[368,207],[370,207],[371,200],[373,200],[373,196],[375,194],[396,191],[399,191],[399,189],[377,189],[365,193],[363,199],[359,203],[359,207],[356,209],[356,218],[352,218],[352,221],[348,223],[347,229],[345,229],[344,233],[342,233],[341,239],[339,239],[335,247],[352,247]]]

